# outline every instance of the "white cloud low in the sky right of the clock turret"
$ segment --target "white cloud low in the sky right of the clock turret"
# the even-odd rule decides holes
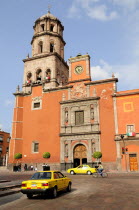
[[[119,79],[118,86],[122,89],[137,89],[139,84],[139,63],[130,65],[110,65],[100,60],[100,65],[91,67],[92,80],[108,79],[112,77]],[[127,88],[128,87],[128,88]]]

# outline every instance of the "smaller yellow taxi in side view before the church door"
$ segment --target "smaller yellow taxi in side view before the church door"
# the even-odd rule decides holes
[[[96,172],[96,168],[91,168],[89,165],[79,165],[76,168],[69,168],[67,170],[70,174],[88,174],[91,175],[92,173]]]

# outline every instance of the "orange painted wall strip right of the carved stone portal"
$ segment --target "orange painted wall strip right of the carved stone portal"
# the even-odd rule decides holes
[[[92,85],[90,95],[93,89],[96,89],[96,95],[99,100],[99,118],[100,118],[100,147],[102,151],[103,162],[116,161],[116,144],[114,141],[114,110],[113,110],[113,83]]]

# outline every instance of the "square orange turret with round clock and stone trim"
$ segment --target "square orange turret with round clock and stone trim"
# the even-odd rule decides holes
[[[78,54],[69,59],[69,82],[90,80],[90,56]]]

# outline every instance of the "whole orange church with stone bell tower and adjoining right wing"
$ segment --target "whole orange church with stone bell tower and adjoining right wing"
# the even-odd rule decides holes
[[[32,56],[23,60],[22,90],[14,93],[8,167],[16,164],[16,153],[22,154],[22,166],[38,169],[45,162],[60,170],[93,167],[92,154],[101,151],[105,168],[137,171],[139,90],[117,92],[114,75],[91,81],[88,54],[71,57],[67,64],[64,26],[50,12],[33,28]]]

